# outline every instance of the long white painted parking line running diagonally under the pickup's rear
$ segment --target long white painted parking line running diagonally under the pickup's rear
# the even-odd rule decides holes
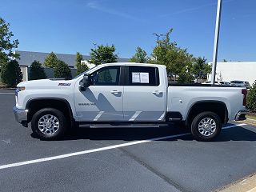
[[[223,127],[223,129],[230,129],[235,126],[246,126],[246,123],[233,125],[233,126],[226,126],[226,127]],[[163,139],[167,139],[167,138],[178,138],[178,137],[182,137],[182,136],[186,136],[186,135],[190,135],[190,133],[169,135],[169,136],[165,136],[165,137],[161,137],[161,138],[150,138],[147,140],[141,140],[141,141],[137,141],[137,142],[126,142],[126,143],[122,143],[122,144],[118,144],[118,145],[114,145],[114,146],[105,146],[105,147],[101,147],[101,148],[97,148],[97,149],[93,149],[93,150],[82,150],[82,151],[78,151],[78,152],[74,152],[74,153],[70,153],[70,154],[62,154],[62,155],[52,156],[49,158],[38,158],[38,159],[26,161],[26,162],[15,162],[15,163],[0,166],[0,170],[10,168],[10,167],[15,167],[15,166],[25,166],[25,165],[29,165],[29,164],[38,163],[38,162],[48,162],[48,161],[52,161],[52,160],[56,160],[56,159],[60,159],[60,158],[69,158],[69,157],[78,156],[81,154],[90,154],[90,153],[94,153],[94,152],[98,152],[98,151],[102,151],[102,150],[112,150],[112,149],[120,148],[123,146],[134,146],[134,145],[138,145],[138,144],[145,143],[145,142],[159,141],[159,140],[163,140]]]

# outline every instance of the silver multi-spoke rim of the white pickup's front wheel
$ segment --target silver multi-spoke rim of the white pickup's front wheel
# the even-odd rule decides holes
[[[45,114],[38,120],[38,130],[42,134],[54,134],[59,128],[59,121],[52,114]]]

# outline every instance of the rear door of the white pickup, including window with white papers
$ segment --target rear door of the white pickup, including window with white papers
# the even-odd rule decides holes
[[[166,110],[166,85],[155,66],[126,66],[123,94],[124,120],[163,121]]]

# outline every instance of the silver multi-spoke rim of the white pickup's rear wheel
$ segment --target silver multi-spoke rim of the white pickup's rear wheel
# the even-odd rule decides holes
[[[213,118],[203,118],[198,124],[198,131],[203,136],[210,136],[216,130],[216,122]]]

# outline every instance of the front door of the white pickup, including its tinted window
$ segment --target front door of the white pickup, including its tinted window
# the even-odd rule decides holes
[[[79,121],[108,122],[123,120],[123,86],[120,86],[120,66],[105,66],[90,74],[91,86],[79,90],[74,102]]]

